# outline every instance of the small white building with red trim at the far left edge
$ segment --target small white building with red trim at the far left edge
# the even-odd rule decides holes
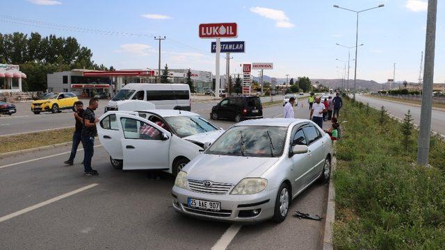
[[[0,92],[22,92],[22,78],[19,65],[0,64]]]

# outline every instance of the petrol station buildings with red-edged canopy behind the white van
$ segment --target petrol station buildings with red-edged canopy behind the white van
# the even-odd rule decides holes
[[[168,80],[170,83],[186,83],[187,72],[188,69],[169,69]],[[74,92],[79,97],[106,92],[113,96],[128,83],[156,83],[157,73],[152,69],[72,69],[48,74],[48,92]],[[211,72],[191,69],[191,73],[196,92],[204,92],[210,87]]]

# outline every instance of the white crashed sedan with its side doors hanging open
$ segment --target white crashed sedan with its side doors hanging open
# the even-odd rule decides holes
[[[204,117],[181,110],[108,111],[99,140],[117,169],[158,169],[176,176],[222,133]]]

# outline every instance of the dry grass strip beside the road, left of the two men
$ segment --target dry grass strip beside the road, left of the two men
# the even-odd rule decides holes
[[[0,153],[70,142],[72,141],[73,132],[74,128],[63,128],[22,135],[3,136],[0,137]]]

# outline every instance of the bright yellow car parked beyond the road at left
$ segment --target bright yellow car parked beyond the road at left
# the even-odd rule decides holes
[[[31,103],[31,111],[35,115],[40,112],[51,111],[52,113],[60,113],[64,109],[74,110],[74,103],[79,101],[76,94],[72,92],[50,93],[44,95],[42,99],[35,100]]]

